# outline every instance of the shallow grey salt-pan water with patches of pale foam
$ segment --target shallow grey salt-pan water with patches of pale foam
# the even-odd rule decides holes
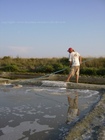
[[[63,140],[73,125],[73,122],[65,123],[67,96],[74,98],[76,92],[82,116],[99,100],[98,91],[45,84],[21,88],[0,86],[0,140]]]

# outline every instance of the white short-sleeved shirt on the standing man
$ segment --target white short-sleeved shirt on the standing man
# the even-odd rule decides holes
[[[80,54],[78,52],[72,52],[69,54],[69,61],[72,61],[72,66],[80,66],[79,57]]]

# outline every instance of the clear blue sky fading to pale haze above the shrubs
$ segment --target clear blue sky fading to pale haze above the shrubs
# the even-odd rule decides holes
[[[105,57],[105,0],[0,0],[0,57]]]

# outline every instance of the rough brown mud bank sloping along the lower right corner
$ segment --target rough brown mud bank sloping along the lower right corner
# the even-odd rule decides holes
[[[95,108],[78,121],[66,140],[105,140],[105,92]]]

